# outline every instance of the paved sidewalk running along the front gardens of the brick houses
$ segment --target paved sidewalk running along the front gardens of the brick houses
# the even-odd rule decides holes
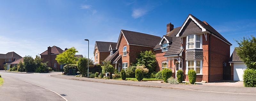
[[[256,88],[249,87],[234,87],[234,86],[213,86],[204,84],[168,84],[168,83],[156,83],[156,82],[138,82],[138,81],[124,81],[114,79],[95,79],[85,77],[75,77],[67,75],[51,75],[51,77],[58,77],[63,79],[72,79],[88,82],[100,82],[107,84],[121,84],[130,86],[141,87],[153,87],[153,88],[166,88],[166,89],[179,89],[179,90],[193,90],[193,91],[208,91],[208,92],[220,92],[220,93],[240,93],[240,94],[255,94]]]

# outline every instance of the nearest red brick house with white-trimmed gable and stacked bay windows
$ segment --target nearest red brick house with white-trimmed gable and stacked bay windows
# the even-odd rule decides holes
[[[196,81],[223,80],[223,67],[228,65],[230,46],[223,36],[205,21],[189,14],[181,27],[167,24],[167,33],[155,46],[158,66],[156,70],[170,68],[176,74],[196,71]]]

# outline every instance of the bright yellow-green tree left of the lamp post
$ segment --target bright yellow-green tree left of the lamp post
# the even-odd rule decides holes
[[[75,54],[77,52],[78,51],[76,51],[75,47],[71,47],[67,51],[57,55],[55,60],[57,60],[59,64],[66,64],[67,66],[70,64],[76,64],[77,57],[75,57]]]

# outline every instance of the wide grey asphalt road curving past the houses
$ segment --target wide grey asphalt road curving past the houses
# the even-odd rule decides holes
[[[248,94],[232,94],[232,93],[215,93],[215,92],[203,92],[203,91],[188,91],[188,90],[174,90],[174,89],[162,89],[162,88],[148,88],[137,86],[126,86],[116,84],[104,84],[96,82],[85,82],[69,79],[61,79],[56,77],[50,77],[56,73],[45,74],[18,74],[18,73],[5,73],[0,72],[5,79],[5,83],[0,87],[0,100],[2,98],[7,99],[5,96],[9,93],[15,92],[9,89],[3,89],[4,86],[19,85],[20,87],[27,86],[22,84],[24,82],[15,82],[8,79],[16,79],[17,81],[26,81],[32,84],[36,84],[55,91],[58,94],[65,94],[64,96],[68,101],[248,101],[255,100],[255,95]],[[12,84],[15,83],[15,84]],[[8,84],[8,85],[7,85]],[[19,88],[20,88],[19,87]],[[38,86],[37,86],[38,87]],[[21,89],[21,88],[20,88]],[[24,88],[23,88],[24,89]],[[7,90],[7,91],[5,91]],[[33,91],[35,88],[26,87],[25,90]],[[43,91],[45,89],[42,88]],[[5,91],[6,93],[2,93]],[[39,91],[39,92],[37,92]],[[21,95],[29,96],[49,96],[48,93],[40,93],[40,89],[34,91],[33,94],[24,94],[25,92],[16,92],[12,96],[17,97],[15,99],[23,100]],[[7,93],[8,92],[8,93]],[[39,94],[40,93],[40,94]],[[51,93],[50,95],[54,95]],[[55,94],[57,95],[57,94]],[[59,98],[59,97],[57,97]],[[31,99],[26,99],[32,101]],[[33,101],[37,101],[34,99]],[[54,99],[53,99],[54,100]],[[7,100],[5,100],[7,101]],[[8,100],[12,101],[12,100]]]

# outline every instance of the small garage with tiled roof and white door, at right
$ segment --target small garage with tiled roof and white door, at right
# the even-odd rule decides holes
[[[244,62],[241,60],[241,58],[237,55],[236,50],[238,48],[236,47],[229,59],[229,63],[231,64],[231,79],[234,81],[243,81],[243,74],[244,70],[247,69]]]

